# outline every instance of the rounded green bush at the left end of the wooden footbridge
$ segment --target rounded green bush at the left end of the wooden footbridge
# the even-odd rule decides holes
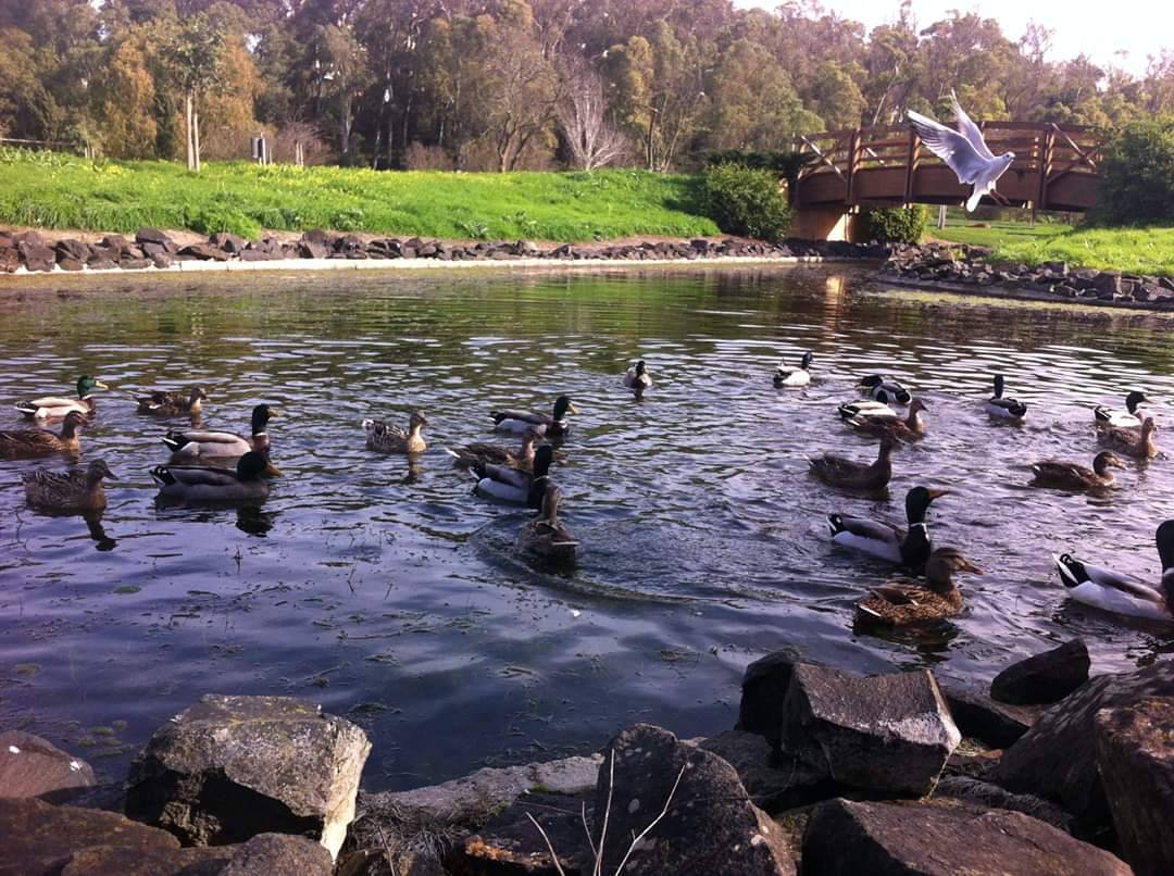
[[[791,224],[777,174],[735,163],[706,169],[706,213],[727,234],[771,242],[783,240]]]

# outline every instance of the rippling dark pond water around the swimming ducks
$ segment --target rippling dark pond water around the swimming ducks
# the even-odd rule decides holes
[[[9,402],[95,375],[112,390],[82,458],[117,481],[90,527],[25,504],[20,473],[63,460],[0,461],[0,727],[119,776],[203,693],[290,694],[367,729],[369,788],[407,788],[588,752],[636,721],[728,728],[745,665],[784,645],[966,683],[1072,635],[1094,672],[1152,661],[1174,635],[1071,604],[1050,557],[1079,548],[1156,580],[1169,460],[1131,463],[1099,499],[1024,484],[1040,458],[1088,464],[1094,403],[1139,388],[1174,422],[1170,326],[884,290],[838,267],[7,278],[0,429],[20,425]],[[780,355],[805,350],[812,385],[775,390]],[[620,375],[641,356],[656,386],[636,402]],[[996,369],[1031,404],[1023,427],[981,413]],[[875,454],[835,407],[878,370],[930,405],[888,500],[807,473],[818,451]],[[261,508],[156,505],[160,436],[182,422],[130,397],[193,382],[209,427],[247,431],[258,402],[288,413]],[[559,393],[581,410],[554,469],[582,543],[561,574],[514,555],[527,514],[473,497],[444,451],[491,438],[492,409]],[[416,405],[418,461],[365,450],[364,417]],[[962,579],[953,622],[853,633],[853,601],[899,575],[834,548],[823,517],[899,520],[915,484],[953,490],[936,541],[986,574]]]

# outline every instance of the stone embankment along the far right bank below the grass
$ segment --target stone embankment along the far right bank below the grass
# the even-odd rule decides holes
[[[920,289],[1174,310],[1174,278],[1073,269],[1066,262],[1043,262],[1033,268],[993,261],[985,247],[902,244],[893,249],[878,276]]]

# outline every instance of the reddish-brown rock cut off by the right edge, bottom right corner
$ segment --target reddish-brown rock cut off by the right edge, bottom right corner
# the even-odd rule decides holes
[[[1174,872],[1174,699],[1101,709],[1097,767],[1125,860],[1145,876]]]

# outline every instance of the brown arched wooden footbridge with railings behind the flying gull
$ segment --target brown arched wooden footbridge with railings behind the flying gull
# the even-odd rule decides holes
[[[1052,122],[979,127],[992,153],[1016,154],[998,182],[1012,205],[1082,213],[1097,204],[1104,140],[1093,128]],[[810,156],[791,193],[798,236],[850,236],[846,220],[862,205],[960,204],[970,195],[970,187],[908,126],[803,135],[796,147]],[[838,235],[837,223],[844,227]]]

